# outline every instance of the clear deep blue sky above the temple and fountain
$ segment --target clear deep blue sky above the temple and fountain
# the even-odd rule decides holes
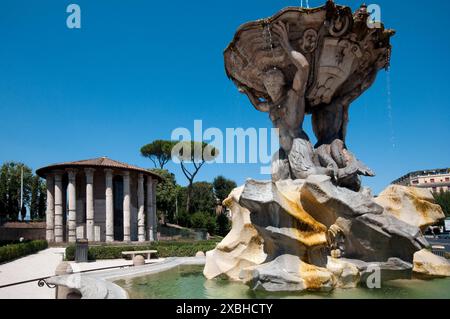
[[[81,30],[66,27],[70,3],[81,7]],[[409,171],[450,166],[450,3],[377,3],[397,30],[392,67],[352,105],[347,141],[376,171],[364,181],[376,193]],[[227,79],[222,53],[240,24],[288,5],[300,1],[2,0],[0,162],[37,169],[108,156],[151,167],[140,147],[196,119],[205,128],[271,127]],[[266,179],[259,167],[208,165],[198,180]],[[178,166],[168,168],[185,184]]]

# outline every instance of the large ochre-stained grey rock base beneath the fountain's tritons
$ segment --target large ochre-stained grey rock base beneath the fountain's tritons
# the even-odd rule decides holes
[[[415,199],[404,200],[412,207]],[[446,269],[428,257],[419,268],[414,257],[429,247],[419,227],[392,216],[369,190],[335,186],[329,176],[248,180],[224,205],[233,227],[206,254],[208,279],[225,275],[267,291],[329,291],[364,285],[374,270],[381,281],[410,279],[413,261],[414,270],[426,267],[430,275],[443,273],[433,267]]]

